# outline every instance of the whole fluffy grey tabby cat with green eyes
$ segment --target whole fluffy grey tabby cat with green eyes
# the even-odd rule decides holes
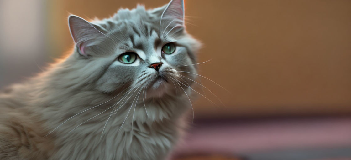
[[[164,160],[191,113],[200,43],[184,1],[70,15],[72,54],[0,93],[0,159]]]

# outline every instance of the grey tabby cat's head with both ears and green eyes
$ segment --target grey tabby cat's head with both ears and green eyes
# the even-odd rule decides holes
[[[120,9],[94,22],[71,15],[68,23],[76,44],[72,56],[84,63],[79,74],[94,75],[99,91],[145,89],[149,96],[161,97],[195,80],[191,64],[199,43],[185,30],[183,0],[152,10]]]

